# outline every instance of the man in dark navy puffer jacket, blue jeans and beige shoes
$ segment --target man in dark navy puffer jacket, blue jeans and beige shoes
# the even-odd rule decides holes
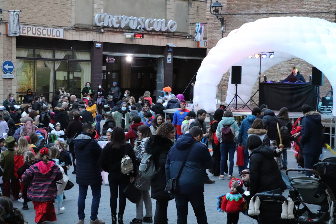
[[[103,224],[105,221],[97,218],[102,182],[98,161],[102,149],[93,138],[96,135],[93,123],[84,123],[82,130],[73,140],[76,154],[76,183],[79,185],[78,224],[84,224],[85,198],[89,186],[92,191],[90,223]]]

